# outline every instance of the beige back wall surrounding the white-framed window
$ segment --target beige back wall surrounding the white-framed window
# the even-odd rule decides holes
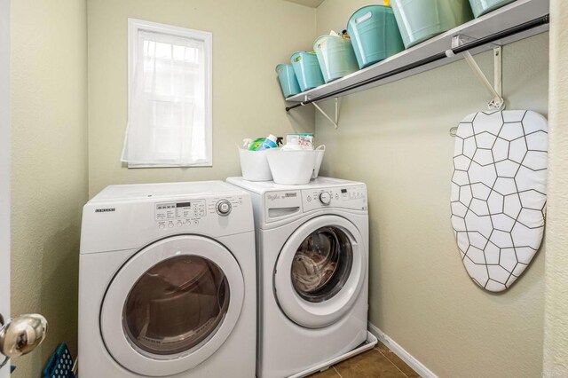
[[[281,0],[97,0],[89,19],[90,195],[106,185],[224,179],[241,174],[242,138],[312,130],[313,111],[288,116],[274,67],[308,49],[315,10]],[[213,167],[126,169],[127,19],[213,33]],[[293,26],[293,27],[291,27]]]

